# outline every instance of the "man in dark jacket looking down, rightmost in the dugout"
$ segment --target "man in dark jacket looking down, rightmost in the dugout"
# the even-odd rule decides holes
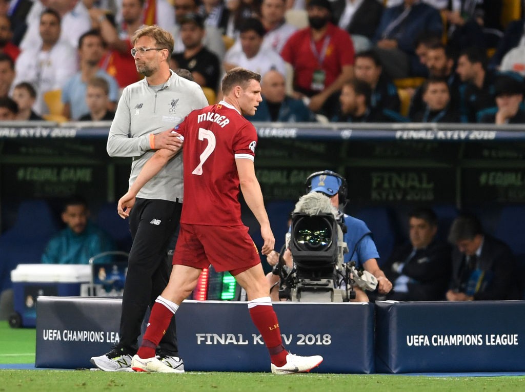
[[[512,251],[505,242],[486,234],[477,217],[457,217],[448,241],[454,245],[448,301],[519,299]]]

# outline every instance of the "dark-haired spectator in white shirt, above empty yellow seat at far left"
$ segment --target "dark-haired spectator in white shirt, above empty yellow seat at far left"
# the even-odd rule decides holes
[[[13,82],[29,82],[37,91],[33,109],[38,114],[47,114],[44,93],[60,90],[62,84],[77,71],[75,49],[60,37],[60,15],[53,9],[46,9],[40,17],[39,33],[41,45],[26,49],[18,56],[15,65],[16,77]]]

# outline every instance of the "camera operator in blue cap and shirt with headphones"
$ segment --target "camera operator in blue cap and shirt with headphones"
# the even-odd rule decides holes
[[[311,174],[307,178],[306,187],[307,193],[319,192],[329,197],[331,204],[341,211],[346,204],[346,193],[348,190],[346,179],[335,172],[325,170]],[[343,240],[349,249],[349,252],[344,255],[344,262],[355,261],[357,268],[362,267],[365,271],[370,272],[377,278],[377,290],[380,294],[390,292],[390,290],[392,290],[392,283],[385,277],[385,274],[377,265],[379,253],[372,239],[372,232],[362,220],[346,214],[343,214],[343,220],[346,225]],[[286,264],[286,266],[291,269],[293,261],[290,249],[285,249],[282,252],[282,256],[275,251],[270,253],[267,261],[271,266],[275,266],[278,264],[280,257],[282,257],[281,264]],[[273,301],[279,301],[279,275],[269,273],[267,277],[271,287],[271,299]],[[356,297],[353,301],[369,301],[366,293],[359,287],[354,287],[354,290]]]

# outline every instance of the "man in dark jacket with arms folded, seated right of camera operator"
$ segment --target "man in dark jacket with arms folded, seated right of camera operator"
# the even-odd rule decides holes
[[[383,266],[394,285],[386,299],[444,300],[450,280],[450,247],[436,238],[436,214],[430,208],[416,208],[409,214],[408,230],[410,241],[394,249]]]

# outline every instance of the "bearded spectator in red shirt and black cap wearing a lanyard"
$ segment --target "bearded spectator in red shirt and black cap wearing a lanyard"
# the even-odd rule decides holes
[[[293,68],[295,98],[328,118],[335,114],[341,87],[353,78],[354,64],[350,35],[330,22],[330,7],[329,0],[310,0],[310,26],[293,34],[281,51]]]

